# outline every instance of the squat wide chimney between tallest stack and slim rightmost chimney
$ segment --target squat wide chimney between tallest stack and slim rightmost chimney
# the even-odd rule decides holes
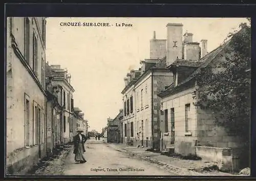
[[[198,42],[187,42],[184,45],[184,59],[185,60],[198,60],[200,47]]]

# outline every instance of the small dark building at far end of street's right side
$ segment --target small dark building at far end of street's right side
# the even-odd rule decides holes
[[[112,120],[108,119],[108,126],[106,128],[108,143],[121,143],[121,124],[120,120],[123,118],[123,109],[119,110],[118,115]]]

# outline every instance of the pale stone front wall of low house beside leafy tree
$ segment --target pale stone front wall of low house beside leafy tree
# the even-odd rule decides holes
[[[174,108],[175,115],[175,152],[187,155],[195,154],[197,140],[197,109],[193,105],[193,94],[195,88],[183,90],[180,93],[166,97],[162,100],[163,109],[168,110],[168,132],[164,133],[165,143],[170,142],[172,130],[170,124],[170,109]],[[185,131],[185,105],[190,104],[188,111],[188,131]],[[164,120],[163,120],[164,124]],[[164,126],[164,125],[163,125]],[[163,128],[163,127],[162,127]],[[164,130],[163,130],[164,131]],[[166,144],[168,147],[169,143]],[[165,145],[163,145],[165,147]]]

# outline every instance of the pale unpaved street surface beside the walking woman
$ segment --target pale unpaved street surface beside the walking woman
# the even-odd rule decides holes
[[[85,146],[87,162],[76,164],[72,149],[66,159],[65,175],[177,175],[108,147],[103,140],[90,139]]]

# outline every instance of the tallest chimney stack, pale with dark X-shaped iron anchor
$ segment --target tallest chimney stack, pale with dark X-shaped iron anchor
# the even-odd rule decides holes
[[[166,65],[182,58],[182,24],[168,23]]]

